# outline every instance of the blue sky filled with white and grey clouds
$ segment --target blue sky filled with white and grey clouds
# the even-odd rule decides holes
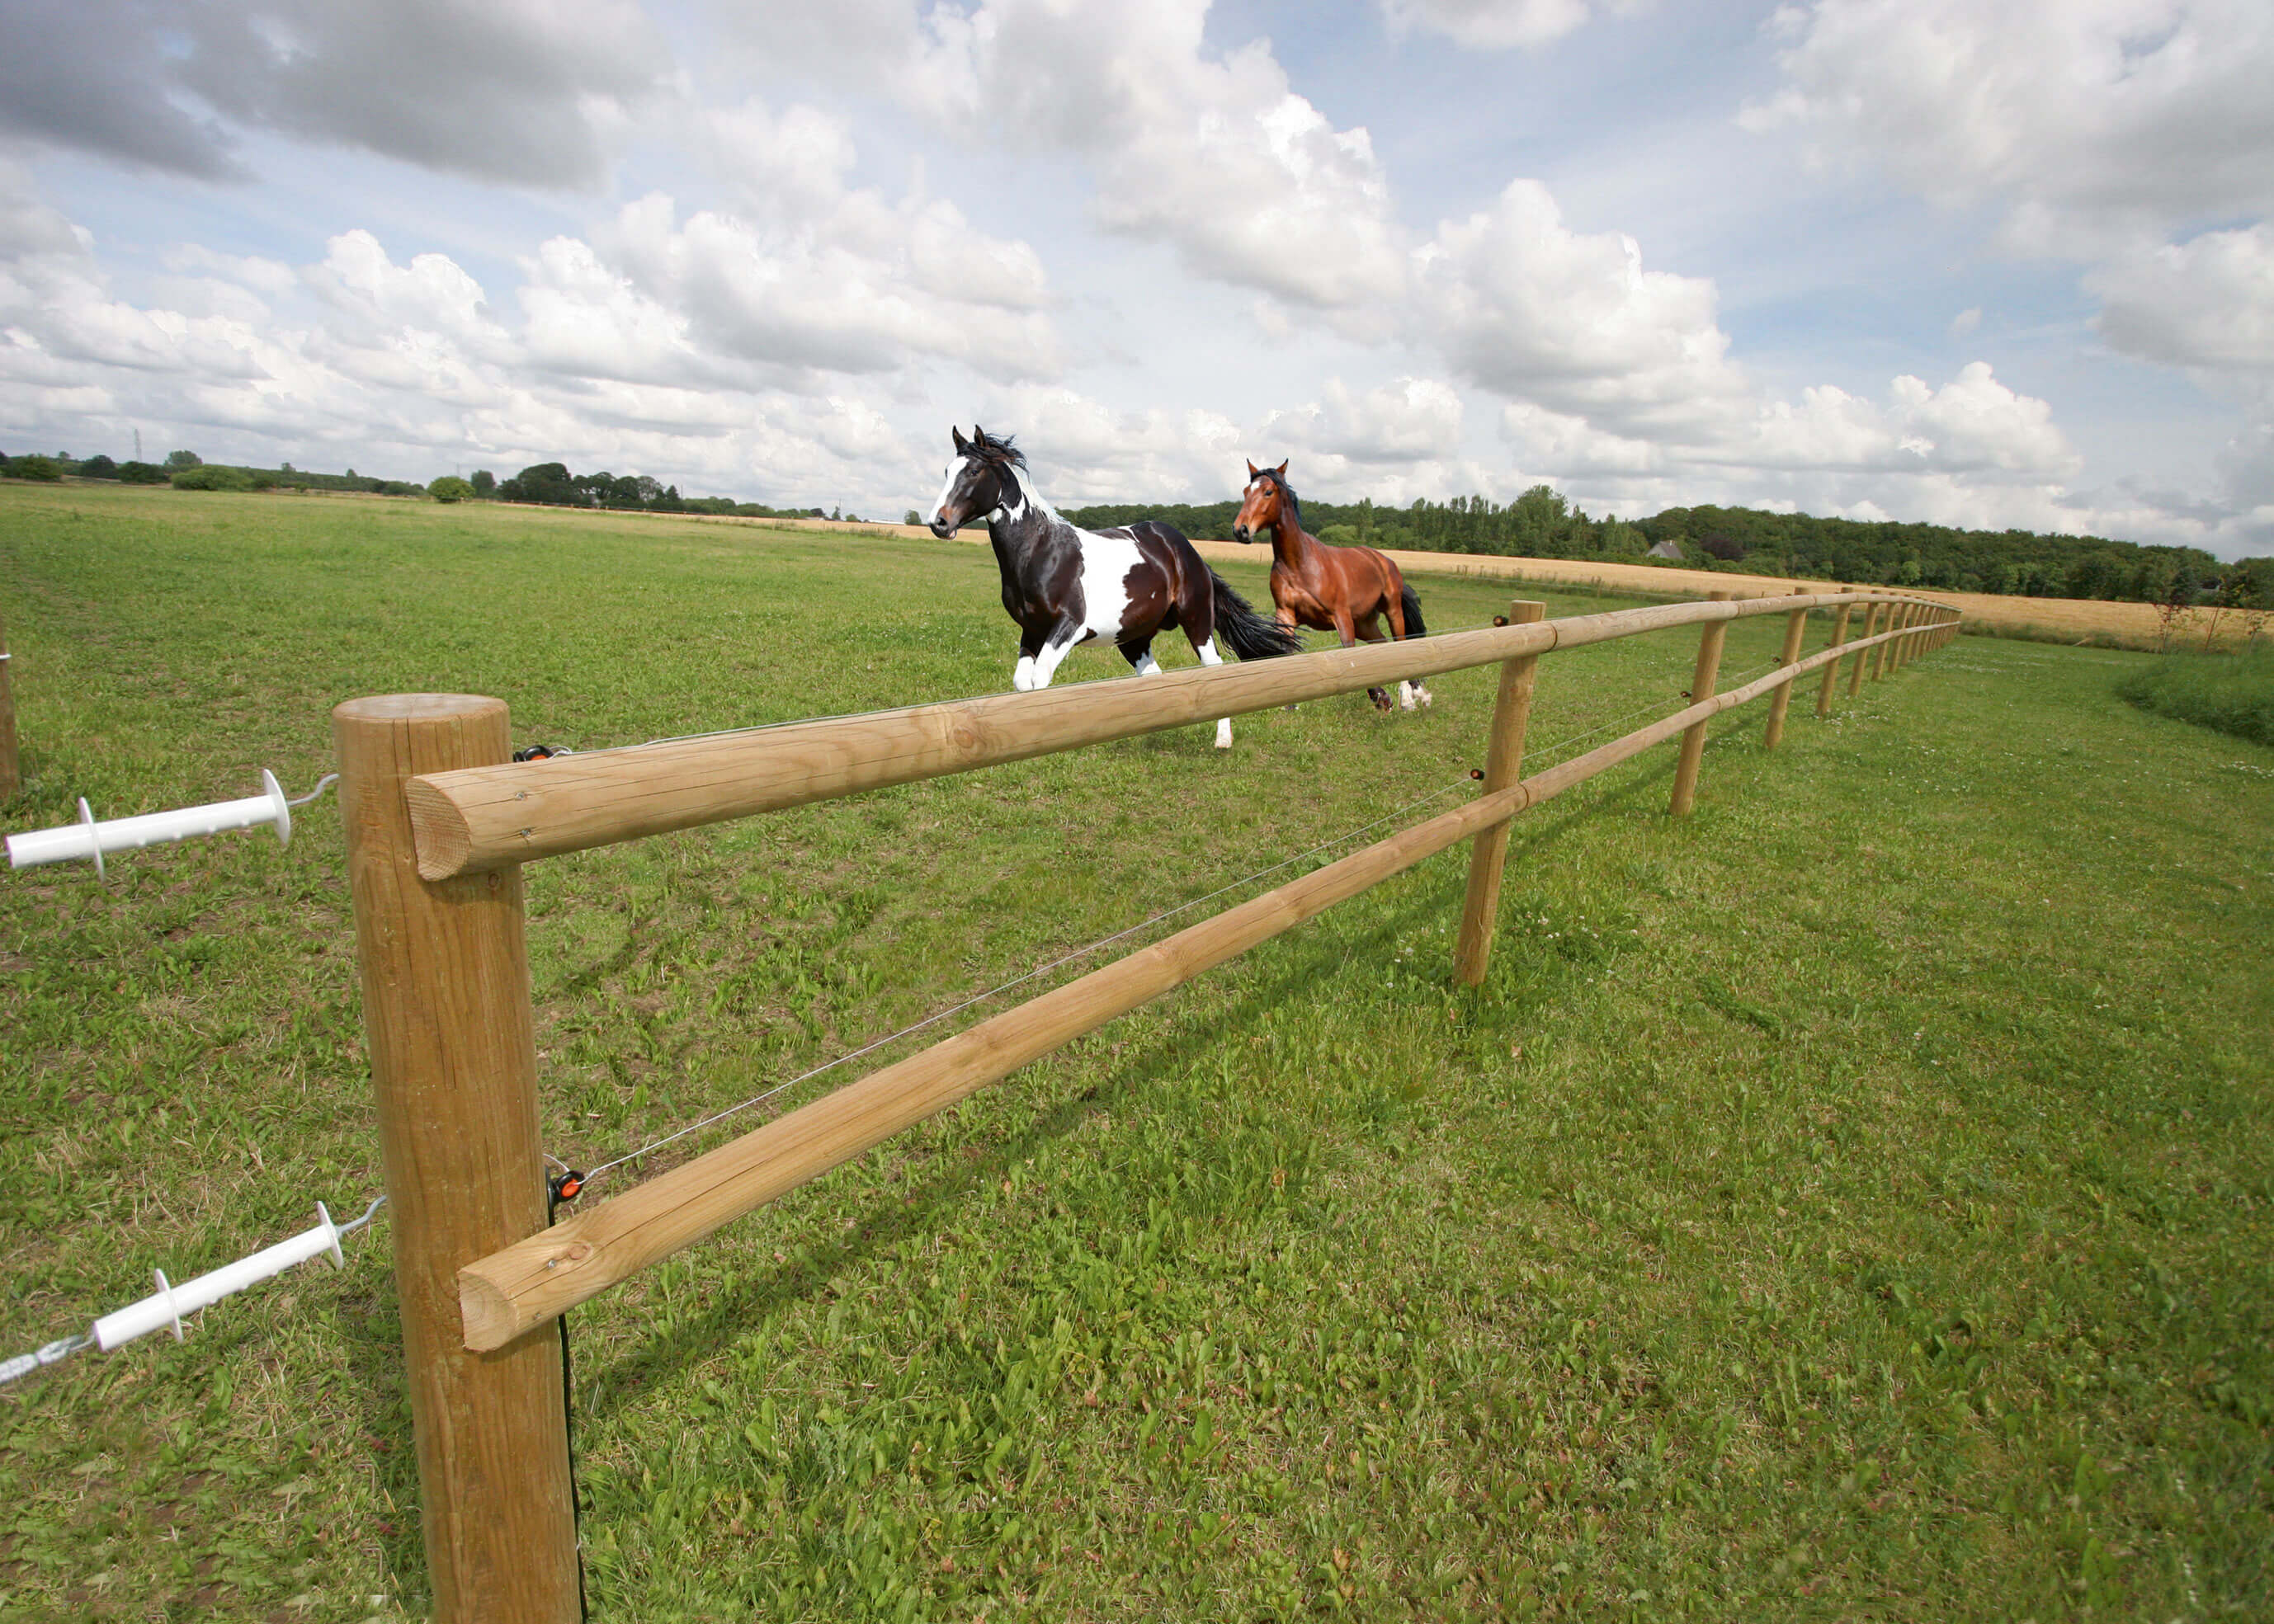
[[[2274,553],[2265,0],[11,0],[0,448]]]

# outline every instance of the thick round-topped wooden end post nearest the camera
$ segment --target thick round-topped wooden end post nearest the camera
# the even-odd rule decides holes
[[[332,712],[434,1619],[573,1624],[559,1347],[468,1353],[457,1308],[459,1267],[546,1226],[521,869],[421,880],[402,798],[418,773],[505,762],[507,739],[496,698]]]

